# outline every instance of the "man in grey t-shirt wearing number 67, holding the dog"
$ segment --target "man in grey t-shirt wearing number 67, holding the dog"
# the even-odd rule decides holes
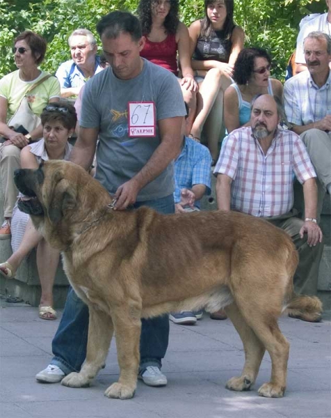
[[[111,67],[86,83],[71,160],[88,169],[99,138],[96,178],[115,194],[115,210],[131,204],[173,213],[173,160],[186,115],[179,83],[168,70],[140,58],[145,38],[130,13],[109,13],[99,21],[97,31]],[[70,291],[53,339],[55,357],[37,380],[58,382],[81,369],[87,329],[88,309]],[[160,369],[168,334],[168,316],[142,320],[139,377],[147,385],[167,384]]]

